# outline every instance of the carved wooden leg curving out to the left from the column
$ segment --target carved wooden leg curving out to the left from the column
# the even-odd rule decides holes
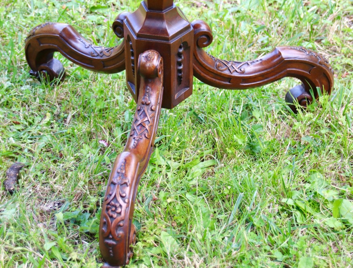
[[[122,23],[128,14],[121,13],[113,23],[113,30],[120,38],[124,37]],[[64,67],[59,60],[53,58],[56,51],[91,71],[117,73],[125,70],[124,42],[109,48],[95,46],[71,25],[47,22],[32,29],[25,42],[25,55],[31,75],[37,78],[44,76],[49,82],[56,78],[63,81]]]

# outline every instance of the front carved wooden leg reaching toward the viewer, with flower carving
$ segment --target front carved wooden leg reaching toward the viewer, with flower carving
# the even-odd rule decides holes
[[[136,240],[132,215],[139,180],[152,153],[163,95],[163,59],[154,50],[142,53],[138,61],[140,93],[130,136],[124,152],[116,157],[104,197],[99,244],[106,264],[124,266],[132,257]]]

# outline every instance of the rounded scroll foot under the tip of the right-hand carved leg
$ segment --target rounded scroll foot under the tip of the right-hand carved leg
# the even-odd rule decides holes
[[[301,84],[287,92],[285,101],[288,103],[289,108],[294,113],[297,113],[298,107],[306,109],[307,105],[312,102],[312,96],[305,91],[304,84]]]

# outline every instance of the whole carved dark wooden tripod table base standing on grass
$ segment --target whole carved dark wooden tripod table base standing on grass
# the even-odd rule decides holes
[[[144,0],[136,12],[116,17],[113,30],[124,40],[119,46],[104,48],[68,24],[48,22],[35,27],[25,44],[30,73],[49,82],[65,78],[64,67],[53,58],[54,52],[95,72],[126,70],[127,88],[137,108],[103,201],[99,244],[105,268],[124,266],[132,257],[130,246],[136,241],[134,202],[152,153],[161,108],[171,109],[192,94],[193,75],[224,89],[248,89],[284,77],[297,78],[301,84],[285,97],[293,111],[318,98],[318,90],[331,94],[334,82],[328,61],[303,47],[277,47],[261,58],[244,62],[211,56],[203,50],[213,40],[209,26],[202,20],[189,23],[173,0]]]

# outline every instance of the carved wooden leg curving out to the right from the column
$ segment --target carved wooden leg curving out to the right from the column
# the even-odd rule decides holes
[[[206,53],[213,40],[209,26],[202,20],[191,23],[194,28],[194,75],[216,88],[247,89],[275,82],[284,77],[298,78],[302,85],[286,95],[306,107],[312,102],[310,91],[318,98],[317,88],[331,94],[334,84],[333,70],[321,55],[303,47],[276,47],[271,53],[256,60],[238,62],[217,59]],[[293,111],[295,106],[291,105]]]

